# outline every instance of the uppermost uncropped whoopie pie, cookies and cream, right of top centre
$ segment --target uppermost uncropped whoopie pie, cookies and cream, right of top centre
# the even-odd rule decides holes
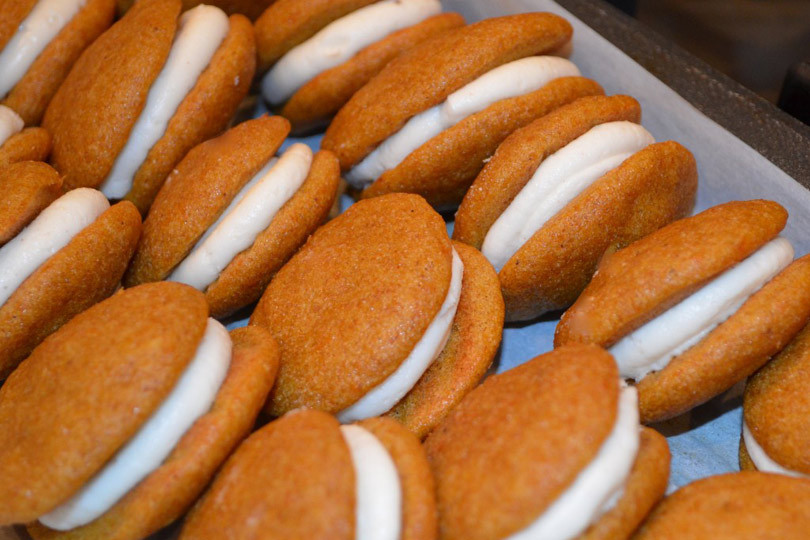
[[[321,143],[361,197],[418,193],[456,206],[512,131],[601,94],[554,52],[571,26],[550,13],[486,19],[402,54],[335,116]]]

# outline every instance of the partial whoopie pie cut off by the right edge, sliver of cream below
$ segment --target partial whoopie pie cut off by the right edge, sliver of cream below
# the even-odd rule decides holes
[[[740,468],[810,478],[810,327],[748,379]]]

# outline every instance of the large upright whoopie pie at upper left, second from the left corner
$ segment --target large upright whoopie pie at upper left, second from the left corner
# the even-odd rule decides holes
[[[45,114],[65,186],[145,213],[174,166],[217,135],[255,68],[250,21],[180,0],[141,0],[76,63]],[[147,34],[144,28],[150,28]]]

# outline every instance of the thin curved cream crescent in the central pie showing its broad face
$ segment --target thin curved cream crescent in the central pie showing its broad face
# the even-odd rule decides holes
[[[359,401],[338,413],[338,420],[345,424],[378,416],[391,409],[414,387],[447,344],[450,330],[453,328],[453,319],[458,309],[458,302],[461,298],[463,274],[464,265],[454,249],[452,274],[447,296],[422,338],[413,348],[411,354],[387,379],[372,388]]]

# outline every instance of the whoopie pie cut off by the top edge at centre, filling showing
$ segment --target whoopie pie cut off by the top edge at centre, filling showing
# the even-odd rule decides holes
[[[439,0],[279,0],[256,21],[262,94],[296,131],[325,126],[393,58],[464,24]]]

